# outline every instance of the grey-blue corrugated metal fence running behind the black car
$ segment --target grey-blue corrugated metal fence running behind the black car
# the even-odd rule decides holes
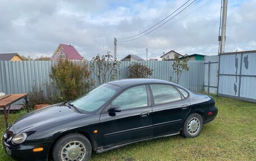
[[[76,61],[82,63],[81,61]],[[51,66],[56,63],[53,61],[0,61],[0,92],[6,94],[29,93],[33,87],[42,89],[45,93],[53,92],[54,86],[49,77]],[[115,80],[126,79],[127,67],[134,62],[120,62],[118,75]],[[170,80],[176,79],[175,72],[172,70],[173,61],[142,61],[140,62],[153,70],[153,79]],[[203,89],[203,61],[189,61],[189,71],[182,73],[179,84],[192,91],[202,91]],[[88,68],[92,62],[88,61]],[[97,76],[92,74],[90,79],[94,80],[95,88]],[[108,76],[110,81],[111,77]]]

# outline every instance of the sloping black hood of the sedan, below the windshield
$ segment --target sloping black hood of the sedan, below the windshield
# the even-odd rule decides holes
[[[25,131],[36,131],[40,127],[56,126],[59,123],[85,116],[86,114],[60,103],[25,114],[13,123],[12,128],[16,134]]]

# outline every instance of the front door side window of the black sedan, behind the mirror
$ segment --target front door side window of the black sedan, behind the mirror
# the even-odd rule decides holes
[[[146,107],[148,105],[146,86],[135,86],[125,90],[113,100],[111,106],[113,105],[117,105],[121,110]]]

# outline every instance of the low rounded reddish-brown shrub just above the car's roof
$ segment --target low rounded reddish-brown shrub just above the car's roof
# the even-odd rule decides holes
[[[132,63],[127,67],[126,76],[128,78],[149,78],[153,73],[153,70],[147,66],[142,65],[141,63]]]

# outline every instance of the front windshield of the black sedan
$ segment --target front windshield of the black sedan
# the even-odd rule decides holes
[[[119,89],[120,87],[111,84],[100,85],[98,88],[95,88],[80,98],[73,100],[72,105],[85,112],[96,111],[102,107],[103,104],[108,102],[108,100],[111,99]]]

